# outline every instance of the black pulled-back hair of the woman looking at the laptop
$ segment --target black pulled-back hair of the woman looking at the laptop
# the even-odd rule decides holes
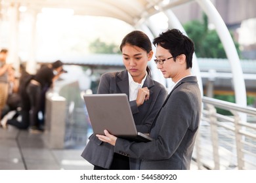
[[[150,39],[148,38],[148,36],[145,33],[143,33],[142,31],[131,31],[131,33],[127,34],[123,38],[123,40],[119,46],[119,49],[121,52],[122,52],[123,46],[125,46],[125,44],[131,44],[133,46],[138,46],[142,50],[145,50],[148,54],[152,51],[152,43],[151,43]],[[148,66],[146,67],[146,72],[151,77],[151,71]]]

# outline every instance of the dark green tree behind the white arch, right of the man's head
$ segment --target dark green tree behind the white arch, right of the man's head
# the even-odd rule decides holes
[[[203,22],[192,20],[184,24],[184,29],[188,37],[195,43],[195,52],[198,58],[226,58],[217,31],[208,28],[208,18],[205,14],[203,15]],[[233,37],[232,33],[230,35]],[[234,43],[240,56],[239,44],[236,41]]]

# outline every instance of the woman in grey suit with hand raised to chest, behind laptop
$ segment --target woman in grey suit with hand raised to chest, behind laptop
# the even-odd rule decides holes
[[[105,73],[100,78],[98,93],[126,93],[129,98],[137,131],[148,133],[167,91],[152,80],[147,64],[152,59],[152,43],[142,31],[132,31],[120,44],[125,70]],[[129,159],[114,153],[114,146],[102,142],[95,134],[81,156],[92,163],[95,170],[139,169],[139,159]]]

